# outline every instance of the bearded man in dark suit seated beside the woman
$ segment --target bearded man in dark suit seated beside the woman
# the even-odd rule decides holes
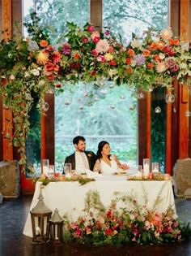
[[[83,136],[77,136],[73,139],[75,147],[74,154],[66,157],[65,163],[71,163],[72,170],[82,171],[85,169],[93,171],[96,163],[96,154],[86,150],[86,139]]]

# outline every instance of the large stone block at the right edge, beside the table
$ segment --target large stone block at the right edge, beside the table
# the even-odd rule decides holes
[[[173,177],[176,196],[191,198],[191,158],[176,161]]]

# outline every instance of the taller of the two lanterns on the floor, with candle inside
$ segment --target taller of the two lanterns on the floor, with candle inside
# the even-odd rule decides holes
[[[49,238],[49,219],[52,215],[52,210],[49,210],[45,206],[41,190],[38,199],[39,202],[30,211],[32,219],[32,241],[44,243]]]

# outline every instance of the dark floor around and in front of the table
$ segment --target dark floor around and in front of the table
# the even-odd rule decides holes
[[[23,235],[32,201],[22,196],[0,204],[0,256],[180,256],[191,255],[191,240],[168,245],[125,245],[93,247],[87,245],[36,245]],[[176,211],[182,221],[191,222],[191,201],[176,199]]]

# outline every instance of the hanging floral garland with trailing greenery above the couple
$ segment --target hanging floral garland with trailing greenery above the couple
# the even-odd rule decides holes
[[[161,32],[149,29],[142,38],[134,35],[125,46],[111,31],[96,31],[91,24],[82,28],[67,23],[68,32],[60,46],[50,45],[49,29],[41,28],[36,13],[32,23],[25,24],[31,38],[12,37],[0,43],[0,93],[4,107],[13,113],[13,124],[5,137],[19,148],[20,165],[25,165],[25,137],[30,128],[32,105],[45,114],[45,94],[51,89],[65,90],[79,80],[86,83],[113,80],[134,89],[149,90],[153,85],[172,89],[175,77],[189,83],[191,56],[189,44],[172,36],[172,29]],[[10,116],[11,117],[11,116]],[[7,118],[7,120],[9,117]],[[11,119],[11,118],[10,118]]]

